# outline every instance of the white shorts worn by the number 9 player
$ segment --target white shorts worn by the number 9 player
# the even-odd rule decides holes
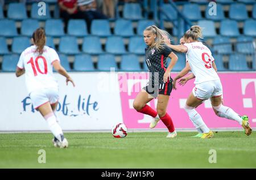
[[[207,81],[196,84],[193,88],[193,95],[201,100],[222,95],[222,85],[220,80]]]

